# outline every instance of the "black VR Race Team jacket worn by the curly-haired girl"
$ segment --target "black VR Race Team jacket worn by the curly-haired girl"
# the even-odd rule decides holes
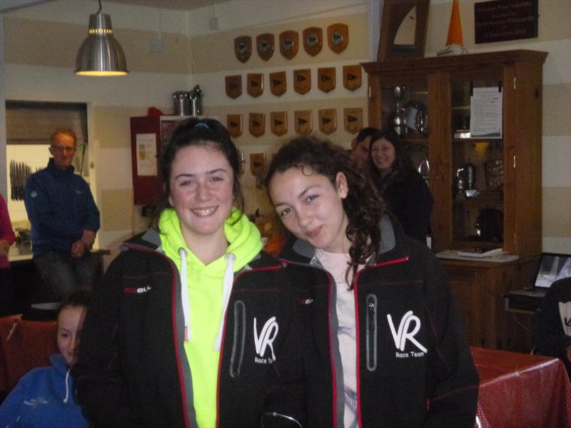
[[[380,256],[358,272],[355,284],[359,426],[472,428],[478,376],[443,267],[388,220],[380,228]],[[308,427],[343,427],[336,288],[313,255],[299,240],[281,254],[298,265],[296,283],[308,285],[300,296]]]

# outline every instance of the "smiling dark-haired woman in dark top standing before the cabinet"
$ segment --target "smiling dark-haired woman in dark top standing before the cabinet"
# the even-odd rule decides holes
[[[393,131],[380,130],[371,137],[371,179],[405,235],[426,243],[430,233],[433,197],[410,155]]]

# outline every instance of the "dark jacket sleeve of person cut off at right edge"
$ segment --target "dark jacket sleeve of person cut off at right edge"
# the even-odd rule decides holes
[[[567,361],[566,349],[571,345],[571,336],[565,335],[563,331],[559,312],[559,299],[557,298],[558,292],[562,291],[560,290],[560,285],[565,285],[565,282],[559,282],[559,284],[557,282],[554,282],[550,289],[547,290],[537,311],[537,336],[535,342],[537,352],[540,354]],[[567,287],[571,288],[571,280],[569,280]]]

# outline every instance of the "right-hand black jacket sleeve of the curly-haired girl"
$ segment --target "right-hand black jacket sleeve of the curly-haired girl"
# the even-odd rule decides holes
[[[428,250],[427,250],[428,252]],[[472,428],[475,424],[478,374],[456,311],[445,270],[430,254],[427,270],[427,299],[433,300],[430,322],[435,348],[428,353],[429,408],[425,427]]]

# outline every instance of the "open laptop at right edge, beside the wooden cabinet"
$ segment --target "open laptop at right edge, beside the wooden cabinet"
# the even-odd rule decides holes
[[[571,255],[542,253],[533,282],[522,290],[507,293],[505,309],[536,310],[552,283],[565,277],[571,277]]]

